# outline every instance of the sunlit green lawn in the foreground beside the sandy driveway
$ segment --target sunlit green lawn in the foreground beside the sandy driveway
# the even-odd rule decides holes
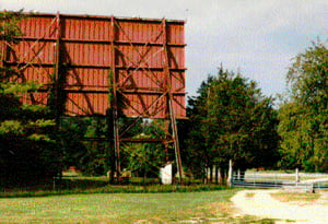
[[[4,198],[0,199],[0,223],[255,223],[249,216],[231,217],[229,198],[235,191]]]

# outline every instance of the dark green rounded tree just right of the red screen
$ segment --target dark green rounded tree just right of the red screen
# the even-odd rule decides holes
[[[206,167],[220,166],[223,175],[229,160],[242,170],[277,162],[277,113],[272,98],[262,96],[254,81],[221,69],[189,104],[196,127],[190,150],[203,154]]]

